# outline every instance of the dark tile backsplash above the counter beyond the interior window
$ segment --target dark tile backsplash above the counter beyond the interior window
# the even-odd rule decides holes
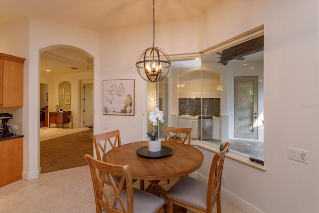
[[[178,102],[179,115],[184,115],[186,113],[186,110],[188,115],[200,115],[201,113],[204,114],[203,106],[206,106],[207,104],[206,115],[215,115],[216,117],[219,117],[220,98],[179,98]]]

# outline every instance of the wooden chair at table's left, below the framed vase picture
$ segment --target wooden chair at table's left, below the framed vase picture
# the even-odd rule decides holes
[[[96,158],[99,161],[104,161],[104,156],[108,152],[108,146],[111,149],[114,149],[115,147],[121,146],[121,135],[120,130],[114,130],[111,132],[105,132],[98,135],[92,136],[95,151],[96,151]],[[119,184],[120,177],[114,177],[115,183]],[[133,182],[136,182],[137,180],[133,179]],[[111,185],[108,178],[105,179],[105,184]],[[140,181],[141,190],[144,190],[144,180]]]

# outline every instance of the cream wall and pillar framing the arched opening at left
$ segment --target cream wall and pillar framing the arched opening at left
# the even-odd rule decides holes
[[[39,176],[39,119],[34,119],[39,117],[39,51],[52,45],[67,44],[78,47],[94,57],[94,69],[98,73],[99,32],[30,18],[2,24],[0,40],[1,52],[26,58],[24,105],[18,109],[23,110],[22,177],[34,179]]]

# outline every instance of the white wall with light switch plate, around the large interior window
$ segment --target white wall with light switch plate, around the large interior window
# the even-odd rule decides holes
[[[237,0],[219,6],[207,14],[202,32],[214,36],[203,47],[265,27],[267,171],[226,159],[225,189],[267,213],[318,212],[318,1]],[[288,147],[309,151],[309,164],[289,160]]]

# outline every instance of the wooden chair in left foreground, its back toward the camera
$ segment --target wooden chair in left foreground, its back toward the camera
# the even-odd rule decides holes
[[[164,213],[164,200],[160,197],[133,188],[131,168],[108,164],[84,156],[89,164],[97,213]],[[114,176],[121,177],[120,183],[115,184]],[[113,191],[106,189],[104,180],[108,177]]]

